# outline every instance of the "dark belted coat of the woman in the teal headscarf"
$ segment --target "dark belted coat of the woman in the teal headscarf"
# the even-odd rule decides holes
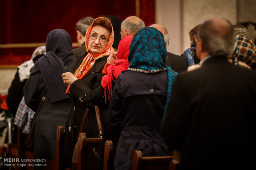
[[[114,168],[130,170],[133,151],[143,156],[168,155],[159,126],[164,113],[167,74],[123,71],[114,85],[108,110],[108,130],[114,141]]]

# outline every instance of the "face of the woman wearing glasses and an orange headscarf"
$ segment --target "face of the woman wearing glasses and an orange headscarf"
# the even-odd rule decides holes
[[[91,39],[90,37],[97,36],[96,39]],[[107,40],[109,39],[110,32],[107,30],[107,28],[102,27],[100,25],[96,25],[92,27],[89,38],[88,38],[88,50],[92,54],[100,53],[106,46],[107,42],[100,41],[100,38],[98,37],[104,37]]]

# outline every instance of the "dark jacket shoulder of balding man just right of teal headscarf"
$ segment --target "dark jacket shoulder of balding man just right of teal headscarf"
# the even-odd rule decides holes
[[[188,67],[187,58],[181,57],[179,55],[175,55],[169,52],[167,52],[167,56],[170,61],[170,67],[173,71],[180,73],[181,71],[187,70],[187,67]]]

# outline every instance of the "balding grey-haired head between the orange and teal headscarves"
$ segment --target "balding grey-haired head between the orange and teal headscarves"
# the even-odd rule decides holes
[[[129,16],[121,23],[121,38],[126,35],[134,35],[138,30],[145,27],[145,23],[137,16]]]

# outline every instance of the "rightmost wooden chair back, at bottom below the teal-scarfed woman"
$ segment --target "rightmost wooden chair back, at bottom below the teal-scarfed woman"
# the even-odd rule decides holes
[[[142,156],[140,150],[133,152],[132,170],[168,170],[173,156]]]

